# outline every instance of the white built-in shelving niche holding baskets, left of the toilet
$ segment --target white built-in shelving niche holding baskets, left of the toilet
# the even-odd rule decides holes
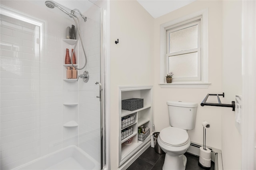
[[[127,111],[122,110],[122,100],[130,98],[143,98],[144,107],[134,110]],[[121,118],[127,115],[135,115],[135,123],[128,125],[132,127],[132,135],[121,139],[121,131],[125,128],[121,128]],[[144,126],[150,128],[152,132],[152,86],[120,86],[119,87],[119,167],[127,163],[134,155],[145,147],[150,145],[150,135],[142,142],[138,140],[138,127]],[[127,139],[132,138],[132,143],[126,144]]]

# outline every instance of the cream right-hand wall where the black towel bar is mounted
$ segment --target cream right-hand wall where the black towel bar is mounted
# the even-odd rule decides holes
[[[242,2],[222,2],[222,83],[223,103],[236,101],[242,95]],[[225,170],[241,169],[241,135],[235,127],[235,112],[222,108],[222,160]]]

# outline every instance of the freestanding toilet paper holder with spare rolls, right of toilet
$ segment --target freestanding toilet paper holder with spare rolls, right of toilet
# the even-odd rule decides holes
[[[199,161],[198,165],[206,170],[211,168],[211,150],[206,148],[206,128],[210,127],[210,124],[207,121],[202,122],[203,125],[203,146],[200,147]]]

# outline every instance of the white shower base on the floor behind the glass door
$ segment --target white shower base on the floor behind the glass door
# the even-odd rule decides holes
[[[100,163],[75,145],[57,150],[13,170],[99,170]]]

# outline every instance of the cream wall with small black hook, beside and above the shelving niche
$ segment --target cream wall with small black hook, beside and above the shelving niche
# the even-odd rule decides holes
[[[118,169],[118,86],[153,84],[153,18],[137,1],[110,1],[110,161]],[[119,43],[115,41],[119,39]]]

